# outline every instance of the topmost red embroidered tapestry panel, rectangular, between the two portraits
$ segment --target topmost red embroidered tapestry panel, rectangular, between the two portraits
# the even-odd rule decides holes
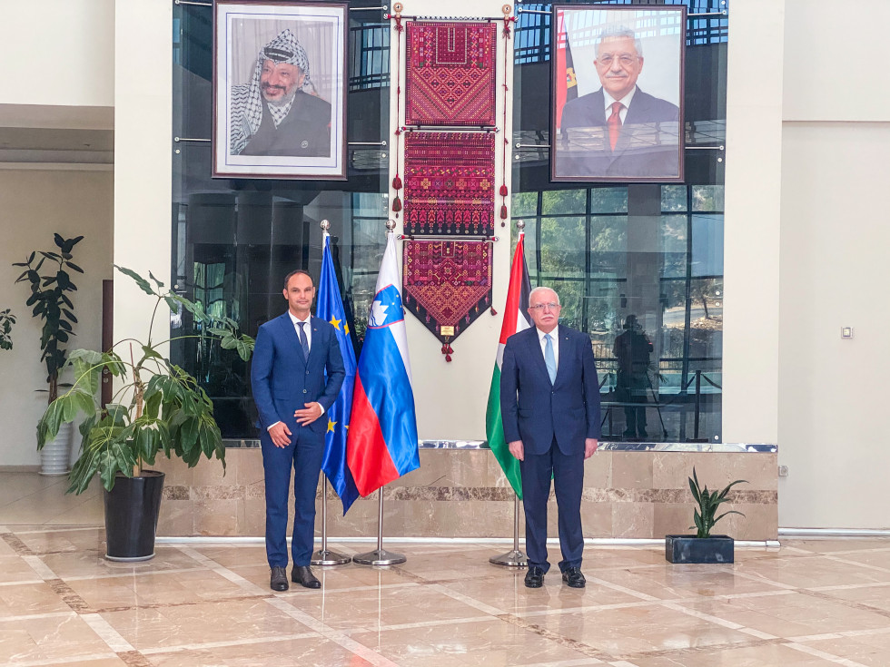
[[[493,23],[408,22],[405,123],[494,125]]]

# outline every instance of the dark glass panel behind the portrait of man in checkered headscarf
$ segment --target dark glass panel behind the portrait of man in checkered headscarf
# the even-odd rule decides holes
[[[385,243],[388,218],[390,22],[380,3],[353,0],[350,13],[348,181],[212,179],[209,142],[182,142],[173,156],[172,270],[177,289],[256,336],[285,309],[282,279],[293,269],[318,276],[320,222],[331,247],[344,306],[361,345]],[[211,136],[212,8],[173,6],[173,133]],[[173,323],[173,361],[201,383],[226,438],[253,438],[255,407],[248,365],[202,337],[188,313]]]

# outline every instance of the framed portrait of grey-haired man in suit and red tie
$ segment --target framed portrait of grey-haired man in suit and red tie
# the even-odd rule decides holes
[[[686,7],[553,5],[552,181],[683,181]]]

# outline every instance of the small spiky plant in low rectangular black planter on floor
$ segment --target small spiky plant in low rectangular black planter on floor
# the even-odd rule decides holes
[[[665,538],[665,557],[670,563],[734,563],[735,552],[732,537],[728,535],[711,535],[711,528],[726,515],[742,515],[736,510],[729,510],[717,515],[717,508],[728,502],[729,489],[737,484],[747,484],[745,479],[731,482],[722,491],[708,491],[698,484],[695,467],[689,477],[689,489],[698,504],[695,510],[696,535],[667,535]]]

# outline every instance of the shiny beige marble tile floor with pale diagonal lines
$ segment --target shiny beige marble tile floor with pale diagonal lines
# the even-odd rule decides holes
[[[90,525],[94,501],[65,510],[52,486],[0,473],[3,665],[890,665],[887,539],[785,540],[734,565],[588,547],[583,590],[552,571],[526,589],[488,563],[502,545],[388,542],[405,564],[315,568],[321,591],[272,593],[261,544],[106,561],[101,503]]]

